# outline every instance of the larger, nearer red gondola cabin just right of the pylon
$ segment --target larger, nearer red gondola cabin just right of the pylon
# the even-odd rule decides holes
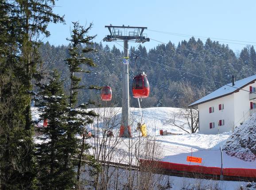
[[[139,74],[133,78],[132,94],[134,98],[147,98],[149,95],[149,84],[147,76]]]

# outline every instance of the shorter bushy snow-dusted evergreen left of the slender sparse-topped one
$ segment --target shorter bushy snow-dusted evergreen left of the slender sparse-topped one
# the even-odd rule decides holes
[[[49,84],[37,84],[42,96],[38,106],[40,120],[47,119],[47,127],[37,128],[40,143],[37,144],[36,158],[38,167],[39,189],[57,190],[72,189],[75,179],[74,168],[65,168],[67,138],[67,98],[64,95],[63,83],[56,71],[51,74]]]

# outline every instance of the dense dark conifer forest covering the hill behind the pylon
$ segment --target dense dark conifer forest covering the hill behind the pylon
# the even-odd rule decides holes
[[[89,74],[80,76],[82,85],[111,86],[112,103],[121,106],[123,52],[120,51],[122,47],[118,49],[115,45],[111,49],[107,45],[103,46],[95,42],[93,48],[97,49],[97,52],[88,53],[88,56],[93,59],[97,67],[90,68]],[[70,83],[68,66],[65,64],[68,48],[69,46],[51,46],[49,42],[40,47],[44,68],[49,70],[57,68],[65,87]],[[135,64],[136,55],[138,59]],[[253,46],[244,47],[240,54],[236,54],[228,45],[209,38],[203,43],[202,40],[192,37],[188,41],[178,43],[178,46],[168,42],[149,50],[139,44],[131,46],[129,57],[130,101],[131,106],[134,107],[138,105],[136,99],[132,98],[132,78],[140,71],[147,74],[151,87],[150,96],[142,100],[143,107],[181,107],[182,92],[179,89],[181,82],[187,82],[208,94],[223,84],[230,83],[232,75],[239,80],[254,75],[256,69],[256,52]],[[100,101],[99,91],[81,90],[79,102],[89,99],[104,106]]]

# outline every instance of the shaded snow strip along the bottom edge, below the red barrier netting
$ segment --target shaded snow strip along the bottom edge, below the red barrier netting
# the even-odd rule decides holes
[[[109,189],[115,189],[116,185],[120,190],[127,189],[124,186],[126,186],[128,183],[128,170],[119,168],[117,171],[113,167],[110,167],[109,170],[113,173],[118,173],[119,176],[118,185],[115,183],[116,175],[111,176],[111,179],[109,180]],[[85,168],[84,172],[85,173],[83,178],[89,182],[93,181],[88,176],[88,167]],[[134,173],[134,171],[132,171],[132,176],[133,175],[135,176],[133,187],[136,187],[136,172]],[[154,177],[151,176],[151,180],[151,183],[156,184],[155,188],[152,188],[152,190],[159,190],[157,183],[162,185],[164,190],[255,190],[256,187],[255,182],[250,183],[242,181],[217,181],[211,179],[194,179],[158,174],[154,175]],[[169,185],[167,185],[168,181]],[[85,186],[85,188],[90,190],[94,189],[93,186],[90,186],[89,183],[87,186]]]

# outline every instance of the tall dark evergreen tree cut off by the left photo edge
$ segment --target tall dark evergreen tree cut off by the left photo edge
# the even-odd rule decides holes
[[[33,189],[26,160],[32,153],[25,130],[27,88],[19,71],[20,21],[9,1],[1,0],[0,6],[0,188]]]

